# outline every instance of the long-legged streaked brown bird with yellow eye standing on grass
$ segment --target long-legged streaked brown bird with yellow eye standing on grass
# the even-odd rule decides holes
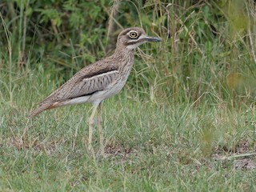
[[[79,70],[52,94],[39,102],[38,108],[32,110],[29,118],[44,110],[59,106],[69,106],[90,102],[93,104],[89,118],[88,149],[92,150],[94,116],[98,112],[98,134],[101,153],[104,154],[102,133],[102,102],[118,94],[125,85],[134,65],[134,50],[145,42],[161,42],[158,37],[148,36],[140,27],[130,27],[118,34],[114,54],[102,58]],[[98,110],[98,111],[97,111]]]

